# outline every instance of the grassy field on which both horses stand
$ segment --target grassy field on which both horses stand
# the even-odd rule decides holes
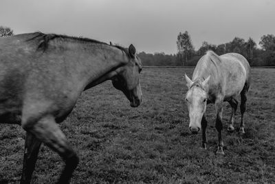
[[[139,108],[111,82],[86,92],[61,129],[80,156],[72,183],[275,183],[275,69],[252,69],[245,134],[226,131],[231,108],[223,111],[225,156],[217,156],[214,107],[207,108],[208,150],[201,134],[188,132],[184,72],[192,68],[145,68]],[[235,119],[238,130],[239,108]],[[24,132],[0,125],[0,183],[19,183]],[[63,161],[41,147],[34,183],[54,183]]]

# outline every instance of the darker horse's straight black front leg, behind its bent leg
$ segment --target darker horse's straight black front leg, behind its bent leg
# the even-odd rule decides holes
[[[39,154],[41,141],[36,139],[30,132],[27,132],[25,139],[25,152],[23,160],[23,172],[21,176],[22,183],[30,183],[32,179],[32,172],[34,172],[35,163]]]

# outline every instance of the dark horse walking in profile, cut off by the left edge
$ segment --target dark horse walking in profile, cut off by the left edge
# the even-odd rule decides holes
[[[142,101],[135,47],[41,32],[0,39],[0,121],[26,130],[21,183],[30,183],[44,143],[65,161],[58,183],[69,183],[78,156],[58,127],[78,96],[111,79],[132,107]]]

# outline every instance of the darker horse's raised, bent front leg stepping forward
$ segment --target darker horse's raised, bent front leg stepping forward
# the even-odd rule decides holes
[[[53,116],[45,116],[37,123],[25,123],[24,129],[36,136],[39,141],[57,152],[65,161],[65,168],[58,183],[69,183],[72,173],[78,165],[78,156],[69,145],[65,135],[58,127]]]

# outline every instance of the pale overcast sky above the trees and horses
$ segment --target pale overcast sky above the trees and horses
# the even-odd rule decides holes
[[[202,41],[234,37],[259,43],[275,34],[272,0],[1,0],[0,25],[15,34],[41,31],[135,45],[141,52],[177,52],[179,32]]]

